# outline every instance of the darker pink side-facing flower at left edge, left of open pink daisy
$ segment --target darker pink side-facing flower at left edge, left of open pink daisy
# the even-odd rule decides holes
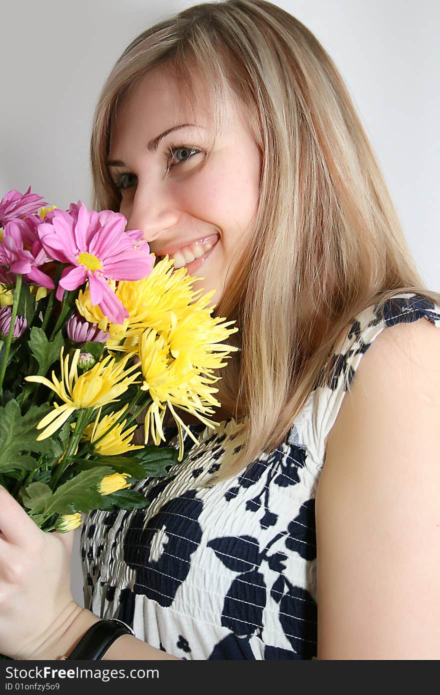
[[[40,239],[32,234],[31,222],[23,224],[27,221],[12,220],[5,225],[0,243],[0,265],[3,266],[0,277],[2,281],[3,278],[15,281],[14,275],[23,275],[34,284],[54,289],[51,277],[39,270],[40,265],[51,259],[44,251]]]

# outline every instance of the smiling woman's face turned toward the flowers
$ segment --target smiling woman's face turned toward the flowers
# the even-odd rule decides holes
[[[176,268],[203,277],[194,288],[215,290],[213,306],[256,213],[261,156],[242,112],[234,111],[204,166],[212,122],[203,85],[196,85],[193,113],[163,68],[149,72],[112,120],[108,169],[127,229],[142,229],[156,257],[168,253]]]

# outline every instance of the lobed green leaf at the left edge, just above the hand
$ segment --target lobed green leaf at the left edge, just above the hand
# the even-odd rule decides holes
[[[36,461],[22,456],[22,452],[46,454],[51,451],[50,439],[36,441],[36,426],[50,409],[47,404],[33,406],[22,416],[16,400],[10,400],[5,407],[0,408],[0,473],[14,468],[24,468],[26,471],[36,468]]]

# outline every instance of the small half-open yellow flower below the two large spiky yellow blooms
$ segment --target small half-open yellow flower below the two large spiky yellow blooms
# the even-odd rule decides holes
[[[99,420],[101,416],[101,409],[99,409],[95,423],[91,423],[85,427],[83,439],[90,441],[92,444],[99,439],[95,445],[95,451],[97,451],[98,454],[102,456],[120,456],[127,451],[143,449],[142,446],[131,444],[137,425],[129,427],[129,429],[124,432],[124,427],[127,424],[126,418],[113,427],[116,420],[122,416],[127,408],[128,405],[125,405],[122,410],[117,413],[104,415],[104,418],[101,420]],[[113,427],[113,429],[111,429],[111,427]],[[108,430],[110,430],[110,432],[108,432]],[[106,432],[108,432],[108,434],[106,434]]]

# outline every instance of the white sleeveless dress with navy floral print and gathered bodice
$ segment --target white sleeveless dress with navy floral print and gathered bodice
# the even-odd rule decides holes
[[[234,420],[215,431],[191,425],[199,445],[184,433],[186,460],[133,484],[147,509],[90,512],[81,533],[85,607],[182,659],[316,657],[315,498],[325,438],[376,336],[419,318],[440,328],[440,306],[414,293],[386,302],[384,320],[377,305],[362,311],[333,355],[334,377],[309,395],[279,447],[234,479],[195,487],[243,445]],[[177,428],[165,436],[178,447]]]

